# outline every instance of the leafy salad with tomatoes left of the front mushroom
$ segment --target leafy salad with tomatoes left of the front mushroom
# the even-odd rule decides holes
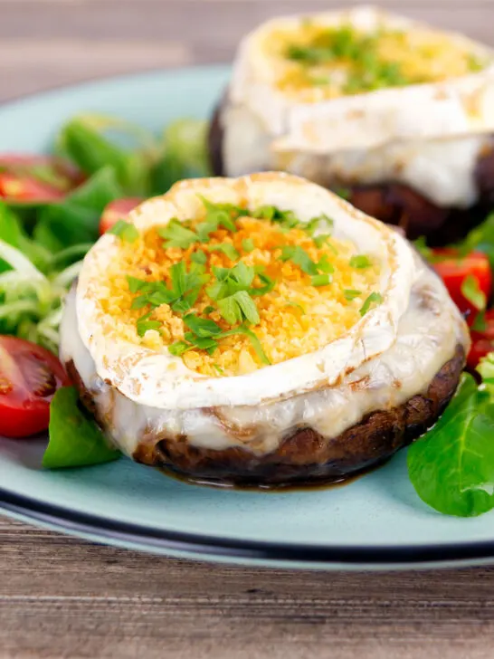
[[[44,467],[119,457],[56,357],[62,300],[100,234],[177,180],[209,175],[206,128],[182,119],[155,136],[84,115],[62,126],[52,156],[0,155],[0,435],[48,429]]]

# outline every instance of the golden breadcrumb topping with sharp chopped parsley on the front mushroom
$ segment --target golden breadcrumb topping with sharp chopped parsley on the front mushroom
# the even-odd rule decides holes
[[[331,224],[204,200],[201,218],[122,237],[100,308],[120,338],[207,376],[313,352],[381,301],[379,263],[333,237]]]

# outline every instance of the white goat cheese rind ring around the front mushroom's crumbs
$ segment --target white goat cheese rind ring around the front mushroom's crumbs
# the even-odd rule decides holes
[[[187,368],[182,358],[164,349],[149,349],[116,336],[115,319],[100,306],[108,299],[108,264],[119,259],[119,238],[106,234],[86,256],[77,289],[77,316],[82,342],[90,350],[98,375],[136,403],[168,409],[253,406],[331,386],[347,371],[389,349],[417,276],[413,252],[402,236],[356,211],[328,190],[280,173],[239,179],[183,181],[165,196],[141,205],[130,219],[139,232],[184,221],[210,201],[274,205],[292,210],[302,222],[328,215],[334,235],[356,245],[380,263],[382,304],[369,310],[347,333],[317,351],[236,377],[207,377]]]

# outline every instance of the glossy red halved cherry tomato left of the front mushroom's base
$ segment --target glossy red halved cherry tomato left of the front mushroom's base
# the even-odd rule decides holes
[[[49,350],[0,336],[0,435],[28,437],[46,430],[55,391],[70,384]]]

